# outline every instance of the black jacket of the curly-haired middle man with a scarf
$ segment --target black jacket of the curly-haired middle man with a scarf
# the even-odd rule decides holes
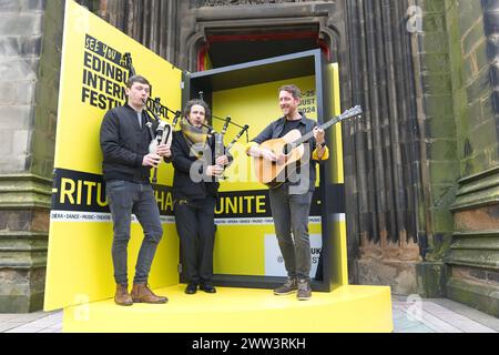
[[[177,200],[203,200],[206,196],[217,197],[220,183],[213,176],[205,175],[206,168],[215,164],[215,140],[208,139],[210,149],[203,153],[203,159],[191,156],[191,150],[182,132],[173,133],[172,163],[175,168],[173,175],[173,199]],[[213,152],[213,154],[212,154]],[[195,165],[193,165],[195,164]],[[196,180],[191,179],[191,170],[194,171]]]

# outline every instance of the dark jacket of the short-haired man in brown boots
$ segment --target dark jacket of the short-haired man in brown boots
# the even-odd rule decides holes
[[[138,183],[149,183],[151,168],[142,166],[149,145],[151,133],[145,123],[156,123],[142,112],[142,129],[139,125],[138,114],[130,105],[108,111],[101,124],[101,149],[103,153],[102,171],[104,181],[124,180]]]

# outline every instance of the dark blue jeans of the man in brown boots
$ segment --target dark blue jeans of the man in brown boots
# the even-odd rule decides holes
[[[154,191],[149,184],[113,180],[106,183],[105,192],[113,219],[114,280],[120,285],[128,285],[129,283],[128,246],[133,213],[144,230],[144,240],[136,261],[133,283],[146,284],[157,244],[163,236],[160,210]]]

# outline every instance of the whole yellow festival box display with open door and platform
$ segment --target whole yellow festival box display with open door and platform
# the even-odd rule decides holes
[[[234,145],[237,164],[226,171],[216,206],[214,283],[217,293],[183,293],[179,237],[173,219],[171,165],[162,164],[156,200],[163,240],[150,284],[165,305],[114,305],[112,223],[103,193],[99,128],[106,110],[123,102],[124,53],[150,78],[153,95],[173,111],[203,92],[216,116],[231,115],[228,143],[248,124],[254,138],[281,115],[277,89],[295,83],[302,110],[323,123],[340,113],[338,65],[319,50],[185,73],[67,1],[45,311],[64,308],[64,332],[391,332],[389,287],[348,285],[342,129],[327,132],[332,152],[318,171],[310,213],[313,290],[308,302],[276,297],[285,280],[266,187],[254,180],[245,140]],[[75,78],[82,79],[81,81]],[[183,89],[181,89],[183,88]],[[163,119],[167,119],[163,116]],[[171,118],[170,118],[171,119]],[[212,121],[220,131],[223,122]],[[78,150],[74,149],[78,144]],[[142,229],[132,224],[129,275],[133,276]],[[303,322],[295,322],[297,318]],[[263,322],[265,320],[265,322]]]

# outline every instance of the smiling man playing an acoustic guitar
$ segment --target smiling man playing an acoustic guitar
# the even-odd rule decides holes
[[[329,151],[324,130],[317,129],[315,121],[298,112],[301,100],[302,92],[296,85],[279,89],[279,106],[284,116],[271,123],[248,144],[247,154],[255,158],[261,175],[271,175],[261,181],[271,186],[272,215],[288,275],[287,282],[274,290],[274,294],[297,292],[297,298],[306,301],[312,297],[308,214],[315,190],[316,162],[326,161]],[[304,144],[286,144],[299,141],[310,132],[313,138]],[[277,144],[271,145],[271,142]]]

